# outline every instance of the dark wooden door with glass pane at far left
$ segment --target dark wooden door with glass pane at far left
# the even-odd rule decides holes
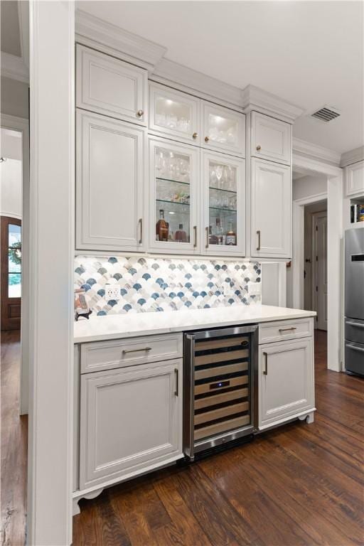
[[[1,330],[20,330],[21,220],[1,217]]]

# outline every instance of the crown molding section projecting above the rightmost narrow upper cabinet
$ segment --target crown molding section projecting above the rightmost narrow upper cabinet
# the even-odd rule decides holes
[[[242,106],[245,112],[255,110],[272,117],[279,117],[293,124],[304,113],[304,108],[277,97],[255,85],[247,85],[241,92]]]

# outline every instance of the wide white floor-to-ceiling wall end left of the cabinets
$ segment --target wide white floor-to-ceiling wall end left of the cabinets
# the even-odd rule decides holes
[[[30,545],[72,542],[74,10],[73,1],[30,2]]]

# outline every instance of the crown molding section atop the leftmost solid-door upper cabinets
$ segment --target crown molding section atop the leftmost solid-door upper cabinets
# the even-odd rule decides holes
[[[77,41],[101,50],[131,63],[151,70],[166,53],[166,48],[151,42],[119,26],[77,9],[75,12],[75,32]],[[96,44],[97,43],[97,44]]]

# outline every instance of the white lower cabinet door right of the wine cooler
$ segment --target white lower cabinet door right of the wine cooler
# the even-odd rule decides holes
[[[314,410],[313,338],[259,346],[259,429]]]

